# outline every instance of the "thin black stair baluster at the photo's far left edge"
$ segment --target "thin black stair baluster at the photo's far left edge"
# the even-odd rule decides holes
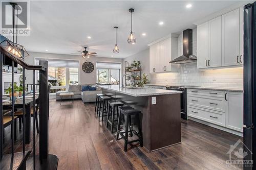
[[[0,161],[3,158],[3,53],[0,51]]]

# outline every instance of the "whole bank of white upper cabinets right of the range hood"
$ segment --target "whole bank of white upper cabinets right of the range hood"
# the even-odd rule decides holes
[[[197,26],[197,67],[243,64],[243,7]]]

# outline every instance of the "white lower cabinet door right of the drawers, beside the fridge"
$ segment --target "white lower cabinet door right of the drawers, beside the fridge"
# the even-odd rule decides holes
[[[226,92],[226,127],[243,130],[243,93]]]

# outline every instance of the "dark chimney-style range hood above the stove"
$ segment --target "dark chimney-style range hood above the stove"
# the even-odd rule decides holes
[[[184,64],[197,61],[197,56],[193,55],[193,30],[183,31],[183,55],[170,61],[169,63]]]

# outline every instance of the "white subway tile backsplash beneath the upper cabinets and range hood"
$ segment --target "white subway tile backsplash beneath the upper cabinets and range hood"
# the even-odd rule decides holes
[[[175,73],[157,74],[156,84],[200,85],[207,87],[243,87],[243,68],[224,68],[201,71],[197,63],[181,64]]]

